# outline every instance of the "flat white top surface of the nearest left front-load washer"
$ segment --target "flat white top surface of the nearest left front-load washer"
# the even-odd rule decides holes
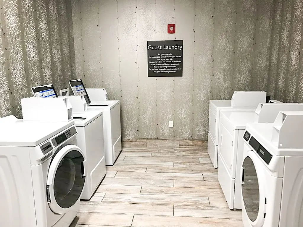
[[[13,122],[12,117],[0,118],[0,146],[37,146],[74,125],[73,121],[23,121],[17,118]]]

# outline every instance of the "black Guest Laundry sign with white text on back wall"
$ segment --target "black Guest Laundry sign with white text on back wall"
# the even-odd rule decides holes
[[[183,40],[147,41],[148,77],[181,77]]]

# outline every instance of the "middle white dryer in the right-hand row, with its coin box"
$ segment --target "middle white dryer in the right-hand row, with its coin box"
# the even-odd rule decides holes
[[[260,103],[255,113],[220,114],[218,180],[230,209],[241,209],[243,135],[248,123],[273,123],[280,111],[303,111],[299,103]]]

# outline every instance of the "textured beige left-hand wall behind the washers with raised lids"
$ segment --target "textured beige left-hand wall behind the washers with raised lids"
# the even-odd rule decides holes
[[[22,117],[30,88],[75,78],[71,2],[0,0],[0,117]]]

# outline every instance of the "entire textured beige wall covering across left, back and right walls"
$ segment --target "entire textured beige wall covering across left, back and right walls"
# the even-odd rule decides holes
[[[303,102],[301,0],[0,0],[0,117],[82,78],[121,100],[123,138],[207,139],[210,99]],[[167,34],[167,24],[176,33]],[[183,77],[147,77],[147,41],[183,40]],[[174,127],[168,127],[168,121]]]

